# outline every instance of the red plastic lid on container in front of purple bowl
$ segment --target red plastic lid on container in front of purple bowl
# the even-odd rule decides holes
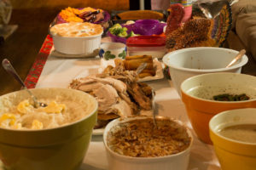
[[[159,47],[166,45],[166,37],[160,36],[137,36],[129,37],[127,47]]]

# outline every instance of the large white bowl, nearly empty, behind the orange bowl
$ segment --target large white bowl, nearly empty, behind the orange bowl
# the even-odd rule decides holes
[[[183,48],[166,54],[163,61],[168,65],[174,88],[180,95],[180,85],[189,77],[211,72],[240,73],[241,66],[247,64],[246,55],[235,65],[225,68],[238,53],[228,48]]]

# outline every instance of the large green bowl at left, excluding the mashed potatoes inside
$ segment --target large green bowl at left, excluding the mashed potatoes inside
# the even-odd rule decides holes
[[[91,107],[90,113],[77,122],[41,130],[0,128],[0,159],[6,169],[15,170],[74,170],[82,163],[96,124],[97,102],[90,94],[68,88],[35,88],[38,99],[61,96],[80,105]],[[0,113],[9,102],[17,105],[29,99],[20,90],[0,97]],[[90,103],[90,105],[88,104]]]

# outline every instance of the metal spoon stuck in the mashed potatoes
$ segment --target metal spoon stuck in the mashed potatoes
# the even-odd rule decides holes
[[[32,92],[26,88],[26,85],[25,83],[21,80],[21,78],[19,77],[19,75],[17,74],[17,72],[15,71],[13,65],[11,65],[11,63],[9,62],[9,59],[3,59],[3,62],[2,62],[2,65],[3,65],[3,68],[5,71],[7,71],[10,75],[12,75],[13,77],[15,77],[16,81],[17,82],[20,82],[21,86],[26,89],[26,92],[28,94],[31,95],[32,97],[32,100],[33,100],[33,106],[35,108],[38,108],[38,107],[46,107],[47,105],[44,104],[44,103],[41,103],[41,102],[38,102],[38,99],[36,98],[36,96],[34,96],[34,94],[32,94]]]

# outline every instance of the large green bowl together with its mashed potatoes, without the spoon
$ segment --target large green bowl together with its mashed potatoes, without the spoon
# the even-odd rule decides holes
[[[0,97],[0,159],[8,169],[78,169],[96,124],[96,99],[74,89],[35,88]]]

